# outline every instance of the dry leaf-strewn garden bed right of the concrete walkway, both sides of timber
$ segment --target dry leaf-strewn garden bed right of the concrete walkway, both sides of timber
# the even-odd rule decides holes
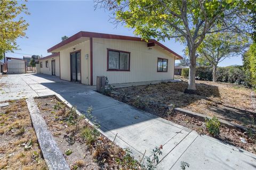
[[[174,113],[173,108],[180,107],[207,116],[216,116],[255,129],[256,117],[251,103],[251,89],[206,81],[197,81],[196,86],[198,95],[184,94],[186,81],[117,88],[107,95],[201,134],[211,135],[205,122],[182,113]],[[220,126],[220,134],[214,138],[256,153],[256,136],[253,131],[243,133]]]

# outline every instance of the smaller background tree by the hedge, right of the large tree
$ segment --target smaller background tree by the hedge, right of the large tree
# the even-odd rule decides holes
[[[228,32],[216,32],[206,35],[203,43],[198,47],[199,56],[205,58],[213,67],[212,78],[217,82],[217,66],[225,58],[243,53],[248,42],[246,36]]]

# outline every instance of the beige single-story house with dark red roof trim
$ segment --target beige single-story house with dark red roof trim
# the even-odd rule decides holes
[[[90,85],[102,75],[111,84],[172,80],[175,60],[182,58],[154,39],[85,31],[47,52],[59,54],[60,79]],[[44,67],[45,58],[40,61]]]

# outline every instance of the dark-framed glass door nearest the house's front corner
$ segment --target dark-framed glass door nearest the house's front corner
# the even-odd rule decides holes
[[[81,53],[70,54],[71,81],[81,82]]]

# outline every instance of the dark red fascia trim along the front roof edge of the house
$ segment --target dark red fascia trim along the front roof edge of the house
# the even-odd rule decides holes
[[[106,38],[106,39],[121,39],[121,40],[131,40],[131,41],[145,41],[143,39],[141,39],[140,37],[130,37],[130,36],[120,36],[120,35],[113,35],[113,34],[107,34],[107,33],[98,33],[98,32],[87,32],[87,31],[80,31],[78,33],[76,33],[75,35],[69,37],[68,39],[62,41],[61,43],[47,49],[47,52],[50,53],[52,52],[54,49],[57,49],[63,45],[66,45],[68,43],[71,43],[72,41],[81,38],[81,37],[92,37],[92,38]],[[179,57],[179,58],[183,58],[181,57],[179,54],[173,52],[173,50],[167,48],[166,46],[164,46],[163,44],[159,43],[158,41],[156,41],[155,39],[151,39],[149,40],[149,43],[156,43],[158,46],[166,49],[168,52],[174,54],[175,56]]]

